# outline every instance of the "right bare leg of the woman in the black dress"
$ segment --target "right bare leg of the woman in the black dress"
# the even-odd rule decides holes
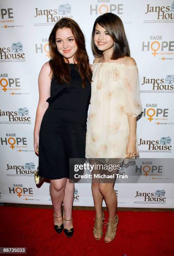
[[[67,179],[65,187],[65,196],[63,198],[63,208],[65,211],[64,218],[66,220],[72,219],[72,208],[73,208],[73,198],[74,198],[74,183],[70,183],[70,180]],[[64,221],[64,228],[72,228],[72,221]]]

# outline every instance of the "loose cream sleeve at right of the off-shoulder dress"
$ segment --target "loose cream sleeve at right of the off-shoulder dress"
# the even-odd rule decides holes
[[[125,67],[124,91],[125,102],[124,111],[127,115],[137,117],[142,112],[139,86],[139,72],[136,66]]]

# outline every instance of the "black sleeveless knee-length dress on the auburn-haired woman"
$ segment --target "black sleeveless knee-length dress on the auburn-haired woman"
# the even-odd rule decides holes
[[[51,81],[48,109],[39,134],[39,175],[47,179],[69,178],[69,158],[85,158],[86,122],[91,84],[70,65],[71,84]]]

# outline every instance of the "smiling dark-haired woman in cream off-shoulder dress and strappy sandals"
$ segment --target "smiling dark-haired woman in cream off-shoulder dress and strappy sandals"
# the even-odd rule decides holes
[[[93,26],[93,62],[91,109],[88,115],[86,158],[93,163],[103,159],[130,161],[139,155],[136,117],[142,106],[136,62],[130,57],[129,44],[121,19],[113,13],[99,16]],[[95,160],[96,159],[96,160]],[[116,236],[119,222],[117,196],[113,183],[92,182],[96,211],[93,235],[103,236],[102,201],[108,208],[108,222],[104,241]]]

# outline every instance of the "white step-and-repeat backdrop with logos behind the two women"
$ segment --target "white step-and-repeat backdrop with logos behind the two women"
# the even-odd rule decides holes
[[[140,157],[134,182],[118,179],[119,207],[174,207],[174,2],[172,0],[1,0],[0,3],[0,202],[50,205],[49,182],[36,187],[38,156],[33,129],[38,74],[49,60],[54,24],[79,24],[90,62],[91,31],[98,15],[119,15],[139,68],[143,115],[137,121]],[[158,161],[157,161],[158,160]],[[57,166],[59,168],[59,164]],[[169,173],[170,172],[170,173]],[[122,177],[126,171],[120,171]],[[91,184],[75,184],[74,205],[93,206]]]

